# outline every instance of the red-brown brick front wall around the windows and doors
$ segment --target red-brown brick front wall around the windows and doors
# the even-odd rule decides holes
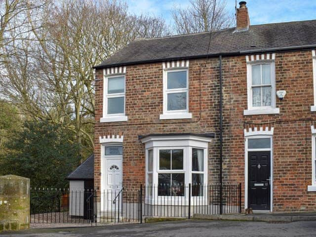
[[[224,181],[241,183],[244,196],[245,123],[274,127],[274,211],[315,210],[316,194],[307,192],[312,180],[311,128],[315,112],[312,52],[276,53],[276,90],[279,115],[243,116],[247,109],[245,56],[223,57]],[[151,133],[209,133],[209,182],[219,174],[219,61],[218,58],[190,60],[189,109],[192,119],[160,120],[162,114],[162,64],[126,67],[127,122],[100,123],[103,103],[103,71],[96,72],[95,188],[100,187],[99,136],[123,134],[123,186],[138,188],[145,183],[145,149],[138,135]],[[304,120],[304,121],[303,121]],[[249,124],[247,124],[249,126]],[[250,124],[251,126],[251,124]],[[244,202],[242,202],[244,203]]]

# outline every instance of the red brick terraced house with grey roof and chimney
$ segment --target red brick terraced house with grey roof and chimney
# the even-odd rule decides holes
[[[243,208],[316,210],[316,20],[252,26],[239,4],[236,28],[95,67],[96,189],[240,182]]]

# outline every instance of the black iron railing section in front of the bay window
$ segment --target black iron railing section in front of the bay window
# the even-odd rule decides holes
[[[146,186],[142,205],[143,215],[153,217],[191,218],[194,214],[240,213],[241,184]]]

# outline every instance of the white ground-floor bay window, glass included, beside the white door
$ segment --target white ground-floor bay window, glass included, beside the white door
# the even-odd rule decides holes
[[[148,135],[141,138],[146,149],[146,200],[170,203],[203,197],[207,185],[207,149],[213,135]],[[154,198],[153,195],[156,197]]]

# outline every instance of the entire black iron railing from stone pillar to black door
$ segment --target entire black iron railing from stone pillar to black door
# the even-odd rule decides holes
[[[241,184],[160,184],[103,191],[31,189],[31,223],[142,223],[143,217],[238,212]]]

